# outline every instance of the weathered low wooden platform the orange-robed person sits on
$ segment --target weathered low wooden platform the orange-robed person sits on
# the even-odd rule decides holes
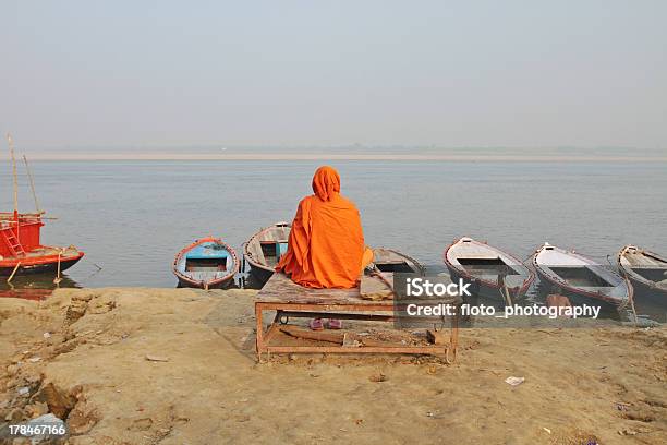
[[[458,338],[458,315],[452,321],[449,342],[446,345],[410,346],[403,344],[380,344],[378,341],[347,341],[345,334],[335,330],[314,333],[296,326],[287,325],[291,317],[305,318],[341,318],[371,322],[395,322],[393,301],[373,301],[362,299],[360,289],[307,289],[294,284],[283,274],[276,273],[258,293],[255,302],[257,322],[256,351],[262,361],[263,353],[405,353],[444,356],[451,362],[456,359]],[[274,321],[265,329],[263,313],[276,311]],[[289,327],[288,327],[289,326]],[[271,342],[279,333],[303,335],[302,338],[317,340],[323,338],[326,345],[296,346],[275,345]],[[313,334],[323,334],[322,336]],[[340,339],[340,342],[338,341]]]

